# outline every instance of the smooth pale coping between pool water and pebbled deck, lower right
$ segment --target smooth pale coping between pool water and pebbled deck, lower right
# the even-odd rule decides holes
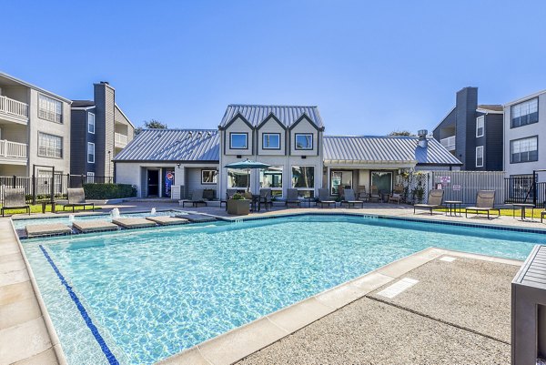
[[[480,259],[512,266],[521,266],[523,262],[452,249],[425,248],[409,256],[389,262],[387,265],[369,271],[358,278],[302,299],[288,307],[268,313],[238,328],[228,330],[166,359],[158,360],[154,365],[234,364],[348,306],[350,303],[364,298],[373,290],[399,279],[411,270],[445,255]],[[329,296],[333,298],[328,298]],[[291,325],[287,326],[285,323],[291,323]]]

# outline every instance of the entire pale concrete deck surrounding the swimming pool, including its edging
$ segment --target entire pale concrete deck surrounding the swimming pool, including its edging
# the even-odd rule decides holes
[[[413,209],[409,206],[379,204],[379,207],[372,205],[366,207],[364,209],[274,209],[269,212],[254,213],[248,217],[322,211],[334,214],[349,212],[407,218],[447,219],[461,223],[493,224],[515,228],[546,228],[546,225],[520,222],[511,217],[487,220],[487,218],[446,217],[440,213],[433,216],[429,214],[414,216]],[[154,208],[178,207],[172,204],[168,204],[167,207],[154,204]],[[122,211],[143,209],[142,206],[130,209],[120,208]],[[185,210],[226,217],[223,208],[210,207]],[[2,273],[2,279],[0,280],[0,319],[16,319],[14,322],[16,324],[9,322],[9,320],[7,322],[0,320],[0,365],[11,363],[64,363],[55,330],[53,330],[46,312],[44,313],[41,310],[43,308],[40,307],[42,299],[39,297],[37,289],[33,288],[32,274],[26,269],[27,263],[21,255],[19,244],[7,218],[0,219],[0,232],[0,272]],[[348,363],[351,361],[356,363],[509,362],[510,345],[503,340],[505,339],[503,336],[506,335],[504,324],[491,322],[492,327],[500,329],[495,331],[494,329],[482,328],[483,326],[472,328],[470,325],[479,322],[474,323],[475,321],[470,320],[471,317],[469,317],[469,320],[463,319],[467,319],[465,316],[468,313],[471,314],[472,310],[476,309],[477,306],[483,306],[484,303],[486,307],[489,306],[493,310],[491,313],[494,315],[490,320],[502,317],[504,321],[509,321],[510,313],[506,314],[499,311],[504,307],[495,305],[497,302],[497,299],[494,299],[497,298],[495,296],[491,297],[493,299],[477,297],[480,300],[474,297],[474,300],[467,303],[466,308],[468,311],[466,314],[465,312],[457,313],[456,310],[454,311],[453,307],[460,305],[456,299],[466,298],[468,291],[465,290],[469,289],[469,282],[464,279],[465,275],[469,274],[469,268],[455,269],[458,268],[457,265],[465,262],[466,259],[480,262],[484,269],[476,271],[476,278],[480,280],[489,278],[490,281],[505,284],[508,291],[501,288],[495,293],[499,295],[498,298],[506,298],[506,300],[510,301],[510,282],[521,262],[461,254],[438,248],[429,248],[420,254],[425,256],[419,258],[419,255],[416,254],[391,263],[363,278],[350,281],[311,299],[297,303],[299,307],[281,309],[276,313],[258,319],[258,321],[248,325],[250,330],[248,326],[244,326],[238,329],[240,331],[235,335],[232,332],[227,332],[198,345],[192,350],[160,361],[160,363],[205,363],[216,365],[235,363],[245,357],[247,358],[242,360],[241,364]],[[450,262],[450,264],[455,263],[451,267],[455,269],[452,270],[450,275],[447,273],[443,277],[437,275],[442,280],[451,278],[453,282],[448,287],[445,286],[447,282],[444,282],[445,285],[442,284],[436,287],[429,285],[429,287],[426,287],[428,289],[417,295],[420,289],[425,288],[424,285],[420,284],[427,282],[426,270],[420,272],[418,268],[428,268],[431,265],[430,262],[434,263],[442,255],[464,258]],[[416,257],[418,259],[415,259]],[[408,261],[408,259],[410,260]],[[441,263],[443,265],[448,262],[442,261]],[[499,265],[512,268],[513,273],[504,275],[503,269],[493,269],[499,267]],[[415,273],[412,272],[412,275],[415,274],[415,278],[411,278],[419,279],[420,283],[403,294],[413,293],[414,297],[404,299],[404,295],[400,294],[399,297],[389,301],[389,299],[380,299],[376,295],[375,291],[384,286],[385,283],[392,283],[400,278],[405,278],[404,274],[413,269],[416,270]],[[435,276],[430,274],[430,278],[435,278]],[[483,290],[480,283],[487,280],[480,280],[470,289]],[[19,285],[21,283],[25,284]],[[17,288],[9,288],[12,285],[17,285]],[[430,303],[427,301],[444,298],[442,297],[444,288],[450,288],[452,294],[450,300],[441,300],[440,302],[432,300]],[[401,299],[404,299],[404,301],[397,301]],[[25,300],[28,302],[24,303]],[[423,306],[422,303],[430,305]],[[7,313],[7,317],[5,317],[5,313]],[[452,314],[453,317],[446,317],[446,313]],[[344,323],[355,323],[356,327],[350,327],[349,324]],[[370,326],[370,323],[375,325],[376,328]],[[337,324],[338,327],[336,327]],[[257,327],[252,330],[253,326]],[[319,326],[319,328],[316,329],[316,326]],[[370,332],[363,332],[367,328],[370,329]],[[316,330],[316,332],[308,332],[312,330]],[[384,330],[384,332],[381,332],[381,330]],[[324,340],[321,340],[323,338]],[[29,342],[27,339],[32,340]],[[409,339],[413,340],[409,341]],[[399,343],[404,344],[404,346],[399,346]],[[450,344],[449,349],[446,345],[448,343]],[[385,344],[388,346],[383,346]],[[345,346],[349,346],[349,348],[345,348]],[[382,349],[383,352],[379,352],[379,350],[376,352],[364,351],[365,355],[362,355],[361,358],[356,357],[364,348]],[[347,358],[349,355],[347,354],[351,353],[354,354],[355,358],[351,358],[352,360],[349,361]],[[397,357],[397,354],[399,357]],[[468,357],[462,358],[461,356],[465,354]],[[328,358],[328,356],[333,358]],[[373,357],[366,358],[366,356]],[[413,356],[413,358],[408,359],[404,358],[404,356]],[[471,359],[473,357],[475,358]]]

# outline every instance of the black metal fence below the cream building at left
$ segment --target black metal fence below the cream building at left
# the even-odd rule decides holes
[[[5,188],[25,189],[27,203],[66,199],[66,188],[81,188],[84,184],[111,184],[114,177],[54,174],[38,177],[0,177],[0,204],[4,204]]]

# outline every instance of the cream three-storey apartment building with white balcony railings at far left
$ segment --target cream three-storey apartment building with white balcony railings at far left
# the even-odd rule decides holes
[[[70,171],[72,101],[0,73],[0,176]]]

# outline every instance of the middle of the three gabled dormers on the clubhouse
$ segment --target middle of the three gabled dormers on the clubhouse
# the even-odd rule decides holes
[[[287,154],[287,127],[270,113],[256,129],[258,155],[285,156]]]

